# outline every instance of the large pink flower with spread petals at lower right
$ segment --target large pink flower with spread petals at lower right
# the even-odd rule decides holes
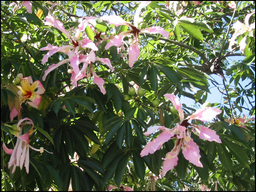
[[[189,120],[198,119],[202,122],[207,122],[212,120],[221,111],[212,107],[204,107],[202,109],[198,109],[184,120],[184,113],[178,98],[174,94],[165,94],[164,96],[171,101],[175,109],[178,111],[180,123],[177,123],[176,126],[171,129],[157,125],[147,128],[146,133],[144,133],[145,135],[153,134],[157,129],[161,130],[162,133],[160,133],[157,138],[145,145],[144,149],[140,153],[140,156],[146,156],[148,153],[152,154],[159,150],[161,146],[168,140],[177,138],[175,140],[173,149],[168,152],[164,158],[165,161],[163,163],[162,175],[165,176],[167,171],[173,169],[177,165],[180,149],[182,149],[183,156],[190,163],[193,163],[198,167],[202,167],[202,163],[200,162],[201,156],[199,154],[199,147],[190,137],[191,132],[189,131],[188,127],[191,128],[193,133],[199,135],[200,139],[215,141],[217,143],[221,143],[221,140],[213,130],[209,129],[208,127],[189,123]]]

